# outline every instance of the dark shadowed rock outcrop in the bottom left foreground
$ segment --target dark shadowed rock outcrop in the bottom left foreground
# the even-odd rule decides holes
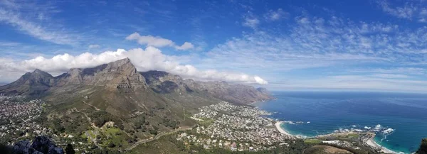
[[[22,154],[63,154],[62,148],[57,147],[46,136],[37,136],[32,144],[29,141],[19,141],[14,145],[14,153]]]

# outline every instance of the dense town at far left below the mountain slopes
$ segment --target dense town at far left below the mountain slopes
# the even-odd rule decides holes
[[[56,145],[73,143],[75,150],[90,149],[92,143],[79,140],[79,136],[56,133],[43,123],[46,103],[41,99],[31,99],[20,95],[0,96],[0,143],[14,145],[36,136],[49,136]]]

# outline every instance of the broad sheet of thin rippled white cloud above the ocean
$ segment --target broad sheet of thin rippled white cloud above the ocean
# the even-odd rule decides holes
[[[243,33],[240,38],[231,38],[211,49],[201,63],[245,72],[259,71],[256,74],[369,63],[427,63],[427,27],[408,30],[390,23],[305,14],[283,28],[286,31],[258,28],[253,33]]]

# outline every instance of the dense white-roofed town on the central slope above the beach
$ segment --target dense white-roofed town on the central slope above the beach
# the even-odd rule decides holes
[[[270,114],[251,106],[237,106],[221,101],[204,106],[199,114],[194,114],[191,118],[202,123],[196,128],[196,135],[181,133],[178,140],[204,148],[239,151],[267,150],[275,148],[275,145],[287,145],[286,141],[294,137],[280,133],[275,126],[276,121],[263,117]]]

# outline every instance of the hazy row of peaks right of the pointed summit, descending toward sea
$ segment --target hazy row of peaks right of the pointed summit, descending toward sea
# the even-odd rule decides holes
[[[227,82],[199,82],[192,79],[181,79],[178,75],[171,75],[162,71],[141,73],[154,92],[167,94],[199,93],[237,104],[250,104],[255,101],[272,99],[267,89],[255,89],[243,84],[228,84]]]

